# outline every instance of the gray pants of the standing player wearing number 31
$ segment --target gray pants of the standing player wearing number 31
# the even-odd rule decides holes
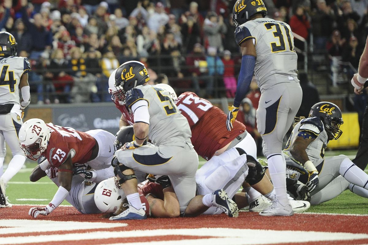
[[[281,153],[282,141],[301,104],[299,82],[279,83],[261,92],[256,113],[258,132],[263,139],[263,154]]]

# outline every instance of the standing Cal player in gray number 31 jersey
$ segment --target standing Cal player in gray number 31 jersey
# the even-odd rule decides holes
[[[229,107],[226,126],[233,128],[239,106],[249,90],[255,73],[261,97],[257,109],[258,132],[263,139],[263,154],[275,187],[275,205],[259,213],[262,216],[289,216],[293,210],[286,195],[286,163],[282,141],[294,120],[302,98],[297,78],[297,54],[290,26],[265,18],[262,0],[237,0],[233,8],[235,40],[242,59],[233,105]]]

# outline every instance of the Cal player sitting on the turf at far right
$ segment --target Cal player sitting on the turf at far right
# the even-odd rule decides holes
[[[329,141],[343,133],[339,129],[343,124],[340,108],[331,102],[319,102],[313,105],[308,118],[298,120],[283,152],[286,161],[307,170],[311,204],[326,202],[347,187],[367,197],[368,175],[363,170],[345,155],[325,158]]]

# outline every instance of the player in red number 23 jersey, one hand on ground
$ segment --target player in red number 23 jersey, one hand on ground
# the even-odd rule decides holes
[[[94,176],[95,182],[109,177],[104,171],[111,167],[114,154],[113,134],[101,130],[87,132],[76,131],[69,127],[61,127],[52,123],[45,123],[41,119],[27,120],[19,132],[20,146],[24,154],[36,161],[45,156],[44,161],[37,167],[45,171],[49,166],[58,168],[60,183],[54,198],[44,208],[31,208],[29,215],[36,218],[38,215],[49,215],[68,196],[72,185],[73,167],[87,163],[92,169],[101,170]]]

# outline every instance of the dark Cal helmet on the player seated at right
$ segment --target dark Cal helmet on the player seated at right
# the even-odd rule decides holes
[[[329,140],[337,140],[343,133],[340,125],[344,123],[340,108],[331,102],[319,102],[312,106],[309,117],[318,117],[323,122]]]

